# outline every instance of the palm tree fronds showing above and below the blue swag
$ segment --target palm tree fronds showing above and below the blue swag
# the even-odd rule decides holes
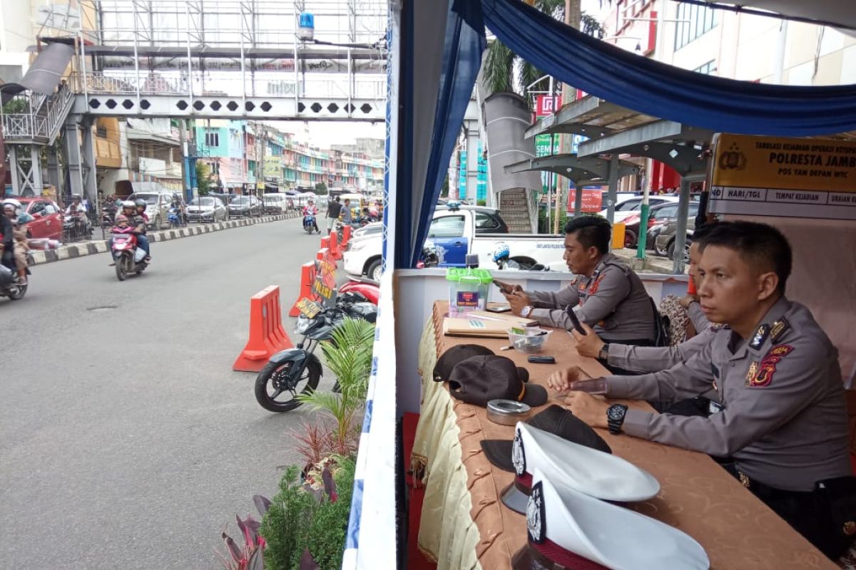
[[[576,0],[576,3],[579,4],[579,0]],[[565,0],[535,0],[532,5],[555,20],[565,21]],[[572,9],[572,13],[573,11]],[[595,17],[585,12],[580,16],[580,29],[590,36],[603,38],[603,26]],[[514,69],[518,66],[520,73],[515,78]],[[498,39],[494,40],[488,48],[483,73],[484,85],[491,93],[517,92],[520,95],[526,95],[526,87],[546,74],[515,54]],[[548,85],[549,79],[543,79],[532,85],[531,89],[547,91]]]

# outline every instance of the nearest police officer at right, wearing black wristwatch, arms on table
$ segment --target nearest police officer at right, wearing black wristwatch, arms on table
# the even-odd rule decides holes
[[[784,296],[791,264],[775,228],[719,222],[698,266],[701,307],[727,325],[710,344],[659,373],[574,382],[576,373],[564,371],[548,384],[572,390],[567,407],[593,426],[728,457],[735,478],[837,558],[856,534],[844,387],[835,347],[811,312]],[[663,401],[710,387],[723,408],[708,417],[651,414],[591,395]]]

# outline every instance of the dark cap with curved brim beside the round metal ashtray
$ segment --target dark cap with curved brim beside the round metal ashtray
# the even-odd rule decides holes
[[[485,407],[490,400],[516,400],[532,407],[547,403],[544,386],[527,384],[529,371],[505,356],[471,356],[449,375],[449,392],[467,403]]]

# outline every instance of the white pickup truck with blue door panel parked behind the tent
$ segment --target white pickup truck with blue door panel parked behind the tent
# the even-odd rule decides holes
[[[564,236],[508,233],[508,226],[496,209],[438,206],[425,240],[425,245],[437,252],[440,267],[464,267],[467,254],[478,254],[479,267],[493,268],[491,256],[500,244],[508,245],[509,259],[521,267],[540,263],[550,269],[567,270],[562,261]],[[344,253],[345,271],[379,280],[382,250],[380,232],[354,238]]]

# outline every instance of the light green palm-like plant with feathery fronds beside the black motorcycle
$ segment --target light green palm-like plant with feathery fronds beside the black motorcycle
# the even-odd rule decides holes
[[[345,319],[332,332],[330,342],[321,344],[324,360],[336,376],[341,393],[313,391],[297,399],[310,408],[324,410],[336,420],[333,441],[337,449],[355,446],[359,438],[359,412],[366,403],[369,373],[372,372],[374,325],[360,319]]]

